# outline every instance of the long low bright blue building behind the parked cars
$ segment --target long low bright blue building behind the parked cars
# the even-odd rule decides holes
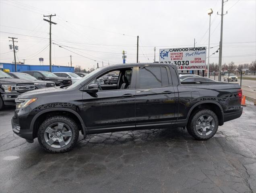
[[[3,66],[3,69],[9,69],[10,72],[15,72],[14,64],[11,64],[11,63],[0,63],[0,64],[2,64],[0,66]],[[22,72],[27,70],[50,71],[50,66],[49,65],[17,64],[17,72]],[[74,67],[52,65],[52,72],[74,72]]]

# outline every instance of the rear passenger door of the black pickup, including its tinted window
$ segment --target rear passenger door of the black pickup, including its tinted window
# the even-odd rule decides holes
[[[176,121],[175,90],[167,69],[157,66],[137,68],[136,127],[170,127]],[[150,88],[151,85],[157,88]]]

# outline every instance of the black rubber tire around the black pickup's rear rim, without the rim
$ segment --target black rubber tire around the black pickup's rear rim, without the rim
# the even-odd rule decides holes
[[[212,132],[206,136],[202,136],[196,131],[196,122],[203,115],[209,115],[209,116],[213,117],[213,120],[215,122]],[[200,111],[194,112],[190,116],[190,119],[189,119],[188,125],[187,125],[187,130],[188,130],[188,133],[196,140],[209,140],[210,138],[212,138],[215,135],[215,133],[218,130],[218,127],[219,127],[219,119],[218,119],[217,115],[209,109],[202,109]]]

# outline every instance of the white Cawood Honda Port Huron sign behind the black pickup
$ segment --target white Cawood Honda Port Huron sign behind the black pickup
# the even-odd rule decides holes
[[[176,65],[178,70],[205,70],[206,47],[160,49],[159,62]]]

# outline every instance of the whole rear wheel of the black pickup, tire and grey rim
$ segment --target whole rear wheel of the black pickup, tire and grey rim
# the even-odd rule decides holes
[[[196,140],[209,140],[215,135],[218,127],[217,115],[209,109],[202,109],[191,115],[187,130]]]

